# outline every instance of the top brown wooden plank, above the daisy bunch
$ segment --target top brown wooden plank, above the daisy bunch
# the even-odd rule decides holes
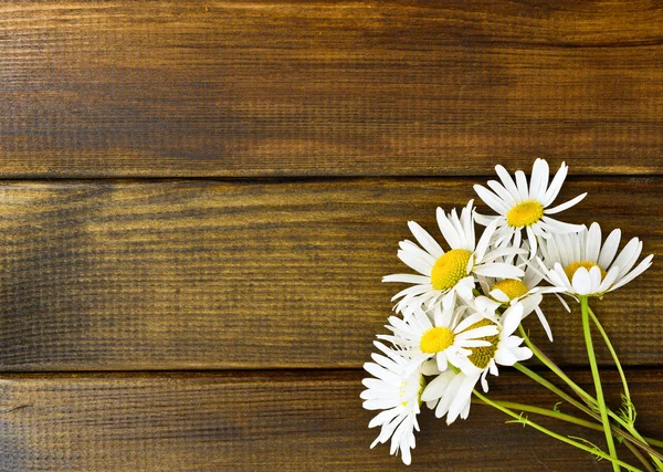
[[[663,171],[645,0],[4,1],[0,176]]]

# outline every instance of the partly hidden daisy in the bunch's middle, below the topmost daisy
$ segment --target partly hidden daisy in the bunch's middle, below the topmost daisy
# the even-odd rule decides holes
[[[528,244],[524,243],[524,248],[528,249]],[[509,263],[513,258],[505,260],[504,262]],[[525,276],[522,280],[518,279],[503,279],[503,277],[480,277],[478,283],[482,287],[484,295],[490,296],[496,302],[496,305],[509,306],[516,303],[523,304],[523,318],[526,318],[530,313],[536,313],[548,339],[552,342],[552,331],[548,324],[548,319],[540,308],[540,303],[546,293],[559,293],[564,292],[565,289],[558,286],[541,286],[539,283],[544,279],[540,271],[536,270],[527,261],[519,260],[518,266],[524,268]],[[493,308],[493,311],[496,307]]]

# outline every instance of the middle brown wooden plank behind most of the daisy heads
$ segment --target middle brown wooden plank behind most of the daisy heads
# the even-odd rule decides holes
[[[473,179],[288,182],[69,181],[0,186],[0,368],[137,370],[357,368],[407,270],[407,220],[438,234],[434,209]],[[663,253],[663,179],[582,179],[568,221]],[[483,207],[480,209],[487,210]],[[441,240],[441,239],[440,239]],[[663,269],[594,305],[627,365],[660,365]],[[578,313],[552,297],[549,345],[586,365]],[[601,352],[601,361],[609,361]]]

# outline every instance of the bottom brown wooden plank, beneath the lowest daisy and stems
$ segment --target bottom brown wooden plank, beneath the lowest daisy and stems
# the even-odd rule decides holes
[[[490,397],[554,405],[555,396],[515,374],[493,378]],[[586,373],[575,374],[591,382]],[[369,449],[377,432],[367,428],[372,413],[361,409],[361,377],[359,371],[3,376],[0,469],[611,470],[607,461],[597,463],[537,431],[504,424],[504,415],[484,406],[473,406],[467,420],[451,427],[425,410],[408,469],[387,447]],[[610,401],[619,406],[618,379],[607,378]],[[661,437],[663,375],[641,370],[631,379],[639,430]],[[600,432],[540,422],[602,443]],[[625,447],[618,448],[631,461]]]

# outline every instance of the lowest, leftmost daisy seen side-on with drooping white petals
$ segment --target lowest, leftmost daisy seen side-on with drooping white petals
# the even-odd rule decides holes
[[[390,349],[381,343],[375,343],[382,352],[372,354],[377,363],[366,363],[364,368],[376,378],[365,378],[367,388],[360,395],[367,410],[383,410],[369,423],[369,428],[381,427],[378,438],[370,444],[385,443],[391,438],[391,454],[401,451],[406,464],[412,461],[410,450],[414,449],[414,430],[419,431],[417,415],[420,412],[421,391],[425,380],[421,369],[407,373],[410,361],[401,352]]]

